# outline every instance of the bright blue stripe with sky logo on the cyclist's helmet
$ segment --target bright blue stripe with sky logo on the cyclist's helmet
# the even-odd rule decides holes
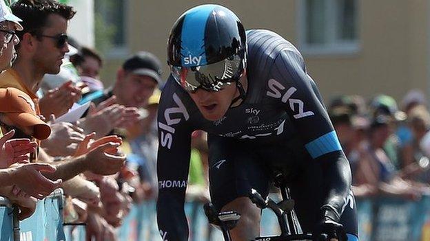
[[[190,62],[190,58],[199,58],[201,60],[198,65],[206,65],[205,55],[205,29],[206,21],[210,13],[216,5],[208,4],[198,8],[198,11],[187,12],[182,25],[181,34],[181,55],[182,66],[196,66],[196,62]],[[185,58],[189,58],[185,62]]]

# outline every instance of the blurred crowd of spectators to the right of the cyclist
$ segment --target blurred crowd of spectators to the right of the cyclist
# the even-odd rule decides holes
[[[329,104],[358,198],[383,195],[418,200],[429,193],[427,100],[422,92],[413,90],[400,106],[402,110],[388,95],[369,102],[358,95],[344,95]]]

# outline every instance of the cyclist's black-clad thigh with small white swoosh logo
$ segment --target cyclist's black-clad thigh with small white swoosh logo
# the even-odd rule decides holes
[[[209,135],[209,190],[217,210],[247,196],[252,188],[267,196],[267,168],[253,148],[240,140]]]

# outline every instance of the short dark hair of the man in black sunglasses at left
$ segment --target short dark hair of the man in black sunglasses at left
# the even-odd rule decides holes
[[[24,30],[17,32],[20,40],[25,33],[35,36],[42,34],[50,14],[59,14],[64,19],[70,20],[76,13],[72,6],[54,0],[19,0],[11,8],[13,14],[22,19],[21,25]]]

